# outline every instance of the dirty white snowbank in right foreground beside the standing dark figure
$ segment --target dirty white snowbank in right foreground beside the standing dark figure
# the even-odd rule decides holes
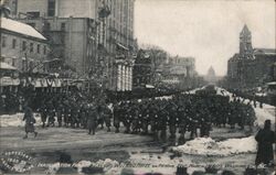
[[[211,138],[197,138],[172,150],[193,155],[227,156],[241,153],[254,153],[256,152],[256,147],[257,143],[254,136],[229,139],[222,142],[215,142]]]

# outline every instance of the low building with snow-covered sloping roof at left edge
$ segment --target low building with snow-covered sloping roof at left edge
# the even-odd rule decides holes
[[[1,17],[1,62],[21,73],[47,72],[47,40],[31,25]]]

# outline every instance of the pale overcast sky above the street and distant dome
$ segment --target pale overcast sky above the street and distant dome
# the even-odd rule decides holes
[[[202,75],[211,65],[225,75],[243,25],[253,47],[275,48],[275,20],[274,0],[136,0],[135,35],[139,44],[195,57]]]

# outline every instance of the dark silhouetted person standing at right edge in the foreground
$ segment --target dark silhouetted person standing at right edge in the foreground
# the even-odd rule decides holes
[[[261,163],[270,165],[274,160],[273,143],[275,143],[276,139],[275,132],[272,131],[270,125],[270,120],[266,120],[264,129],[261,129],[255,136],[258,143],[257,156],[255,160],[256,165],[259,165]]]

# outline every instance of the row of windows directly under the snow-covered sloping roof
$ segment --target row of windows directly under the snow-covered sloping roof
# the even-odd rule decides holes
[[[2,36],[2,39],[1,39],[1,46],[2,47],[7,47],[8,46],[7,36]],[[11,48],[15,50],[17,46],[18,46],[18,40],[17,39],[12,39]],[[42,51],[41,51],[42,50],[42,45],[41,44],[36,44],[36,47],[34,48],[34,43],[29,43],[29,46],[28,46],[26,41],[23,41],[22,42],[22,51],[24,52],[26,50],[29,50],[30,53],[36,52],[38,54],[41,54],[42,53]],[[46,55],[46,45],[43,46],[43,54]]]

